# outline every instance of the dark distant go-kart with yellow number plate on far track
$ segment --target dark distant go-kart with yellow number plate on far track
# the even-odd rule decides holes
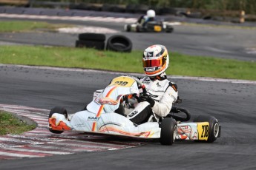
[[[174,27],[164,21],[148,21],[145,26],[140,23],[125,24],[127,32],[154,32],[154,33],[172,33]]]

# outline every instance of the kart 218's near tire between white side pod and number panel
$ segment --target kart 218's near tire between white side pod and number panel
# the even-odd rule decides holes
[[[173,118],[164,118],[161,123],[160,143],[172,145],[177,135],[177,122]]]

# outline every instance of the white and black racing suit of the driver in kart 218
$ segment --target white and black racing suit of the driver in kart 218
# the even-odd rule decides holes
[[[134,123],[140,124],[145,123],[153,112],[159,117],[168,115],[171,111],[172,103],[177,101],[177,85],[168,81],[165,73],[162,73],[157,79],[149,77],[139,79],[145,84],[148,95],[154,100],[154,104],[148,101],[137,103],[137,106],[131,112],[126,113],[127,118]]]

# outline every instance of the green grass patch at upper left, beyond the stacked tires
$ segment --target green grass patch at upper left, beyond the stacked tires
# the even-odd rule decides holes
[[[49,24],[43,21],[0,21],[0,33],[26,32],[36,29],[54,30],[60,27],[72,27],[68,24]]]

